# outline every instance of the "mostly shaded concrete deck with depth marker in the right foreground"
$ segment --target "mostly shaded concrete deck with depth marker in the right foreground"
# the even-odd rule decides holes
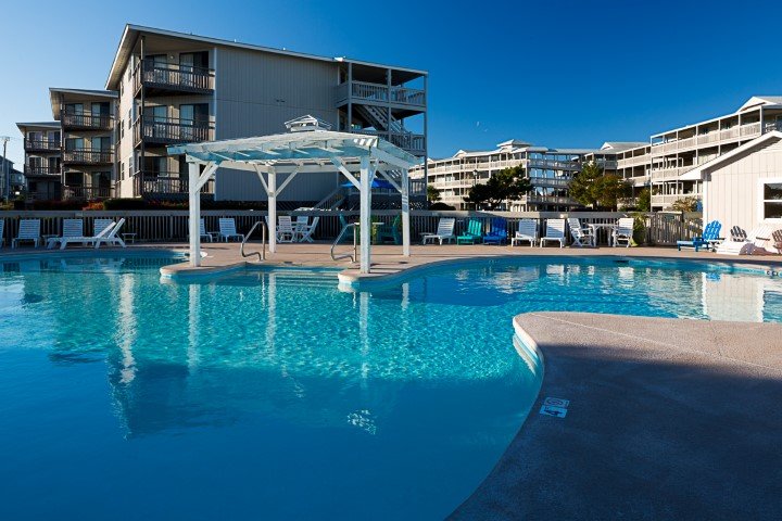
[[[782,512],[782,325],[519,315],[540,395],[453,519],[771,520]],[[564,418],[540,412],[570,401]]]

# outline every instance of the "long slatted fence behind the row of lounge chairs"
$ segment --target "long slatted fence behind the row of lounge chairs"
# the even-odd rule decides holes
[[[332,240],[342,229],[342,223],[358,220],[358,212],[280,212],[282,215],[307,215],[320,217],[314,238],[316,240]],[[373,220],[392,223],[400,215],[398,209],[373,211]],[[411,211],[412,237],[415,241],[421,232],[434,231],[440,217],[456,218],[456,233],[466,229],[467,220],[480,218],[488,231],[492,217],[502,217],[508,220],[508,229],[514,230],[519,219],[537,219],[540,225],[545,219],[577,217],[582,225],[613,224],[620,217],[642,215],[646,227],[645,243],[656,245],[674,245],[679,239],[690,239],[699,233],[702,228],[701,214],[682,214],[676,212],[659,212],[649,214],[626,214],[621,212],[428,212]],[[206,230],[216,231],[217,220],[220,217],[232,217],[237,223],[239,232],[247,232],[252,225],[266,217],[261,211],[202,211]],[[342,216],[342,219],[340,219]],[[16,237],[20,219],[40,219],[41,234],[59,236],[62,233],[63,219],[84,219],[85,233],[92,233],[92,223],[97,218],[119,219],[125,218],[123,232],[136,233],[136,240],[141,242],[181,242],[187,240],[188,219],[187,211],[112,211],[112,212],[0,212],[0,219],[5,220],[5,243]],[[541,226],[542,229],[542,226]]]

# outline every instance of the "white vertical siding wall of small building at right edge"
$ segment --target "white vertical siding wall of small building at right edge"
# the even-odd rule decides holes
[[[740,226],[751,230],[759,223],[762,193],[759,182],[782,177],[782,141],[767,144],[711,171],[707,188],[709,219],[723,229]]]

